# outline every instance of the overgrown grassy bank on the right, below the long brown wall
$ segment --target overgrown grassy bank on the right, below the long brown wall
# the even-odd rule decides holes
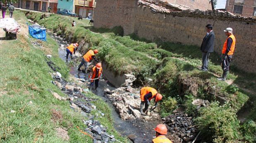
[[[208,136],[212,136],[214,142],[255,141],[255,108],[252,108],[248,121],[242,126],[236,115],[246,103],[255,101],[255,74],[232,70],[227,78],[233,84],[228,85],[216,80],[222,74],[218,54],[211,54],[209,72],[202,72],[198,69],[201,66],[199,47],[150,42],[136,35],[122,37],[117,35],[122,33],[121,28],[95,29],[88,26],[87,22],[78,21],[76,27],[71,27],[69,19],[77,21],[76,18],[53,14],[39,20],[40,15],[29,14],[28,17],[60,33],[70,42],[88,43],[89,47],[84,44],[81,48],[82,53],[89,48],[99,49],[99,58],[107,62],[116,73],[133,73],[139,84],[157,88],[164,94],[160,105],[163,116],[171,114],[172,110],[182,105],[185,112],[194,115],[201,131],[205,134],[210,132]],[[55,22],[58,19],[61,22]],[[148,83],[148,78],[152,78],[153,82]],[[245,92],[242,88],[252,92]],[[211,104],[198,111],[191,104],[196,98],[207,99]]]

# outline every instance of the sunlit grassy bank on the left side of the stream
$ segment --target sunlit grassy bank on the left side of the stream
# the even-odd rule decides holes
[[[22,12],[14,12],[14,19],[22,28],[26,28],[26,16]],[[50,91],[66,96],[58,87],[52,84],[53,71],[46,63],[46,54],[51,54],[51,60],[62,74],[69,77],[69,69],[58,56],[58,44],[47,36],[46,42],[40,42],[42,47],[31,45],[31,37],[20,33],[18,40],[1,40],[0,45],[0,142],[67,142],[57,136],[56,128],[65,129],[69,141],[73,143],[90,142],[92,139],[77,129],[85,129],[82,120],[86,120],[79,112],[74,112],[68,101],[59,101]],[[1,37],[4,34],[1,33]],[[94,94],[86,94],[97,98]],[[108,105],[98,99],[95,103],[98,111],[104,117],[96,117],[108,132],[121,141],[126,139],[117,134],[112,124],[111,110]],[[11,110],[14,110],[11,112]]]

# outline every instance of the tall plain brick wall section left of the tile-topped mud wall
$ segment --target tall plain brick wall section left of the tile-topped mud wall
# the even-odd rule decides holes
[[[124,34],[133,33],[137,0],[97,0],[94,27],[122,26]]]

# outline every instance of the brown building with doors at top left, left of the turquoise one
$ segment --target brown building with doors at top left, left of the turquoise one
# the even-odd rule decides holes
[[[40,12],[47,12],[48,6],[52,7],[51,12],[57,13],[58,0],[19,0],[14,7],[29,9]]]

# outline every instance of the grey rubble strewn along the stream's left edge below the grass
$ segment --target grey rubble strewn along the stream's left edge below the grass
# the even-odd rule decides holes
[[[48,65],[53,68],[53,63],[49,62]],[[56,68],[56,67],[55,67]],[[55,69],[54,68],[54,69]],[[84,133],[87,136],[90,136],[93,138],[93,143],[111,143],[115,142],[114,136],[110,136],[108,133],[106,133],[107,128],[103,127],[100,122],[95,120],[96,117],[102,117],[104,116],[104,113],[101,113],[98,111],[96,115],[91,115],[92,110],[97,110],[96,106],[92,104],[92,101],[98,100],[93,99],[84,96],[82,94],[82,91],[88,92],[89,90],[82,90],[81,87],[77,86],[75,83],[68,83],[65,80],[62,80],[61,74],[56,72],[52,73],[52,77],[55,80],[52,81],[53,84],[55,84],[57,87],[59,87],[66,95],[69,97],[65,98],[62,96],[59,96],[57,93],[53,93],[53,96],[58,97],[59,100],[69,100],[70,108],[77,112],[81,112],[81,115],[86,117],[86,120],[84,121],[84,124],[87,125],[88,128],[84,129],[84,131],[81,130],[82,133]],[[81,79],[77,79],[78,84],[81,83]],[[57,94],[57,95],[56,95]],[[80,130],[80,129],[79,129]]]

